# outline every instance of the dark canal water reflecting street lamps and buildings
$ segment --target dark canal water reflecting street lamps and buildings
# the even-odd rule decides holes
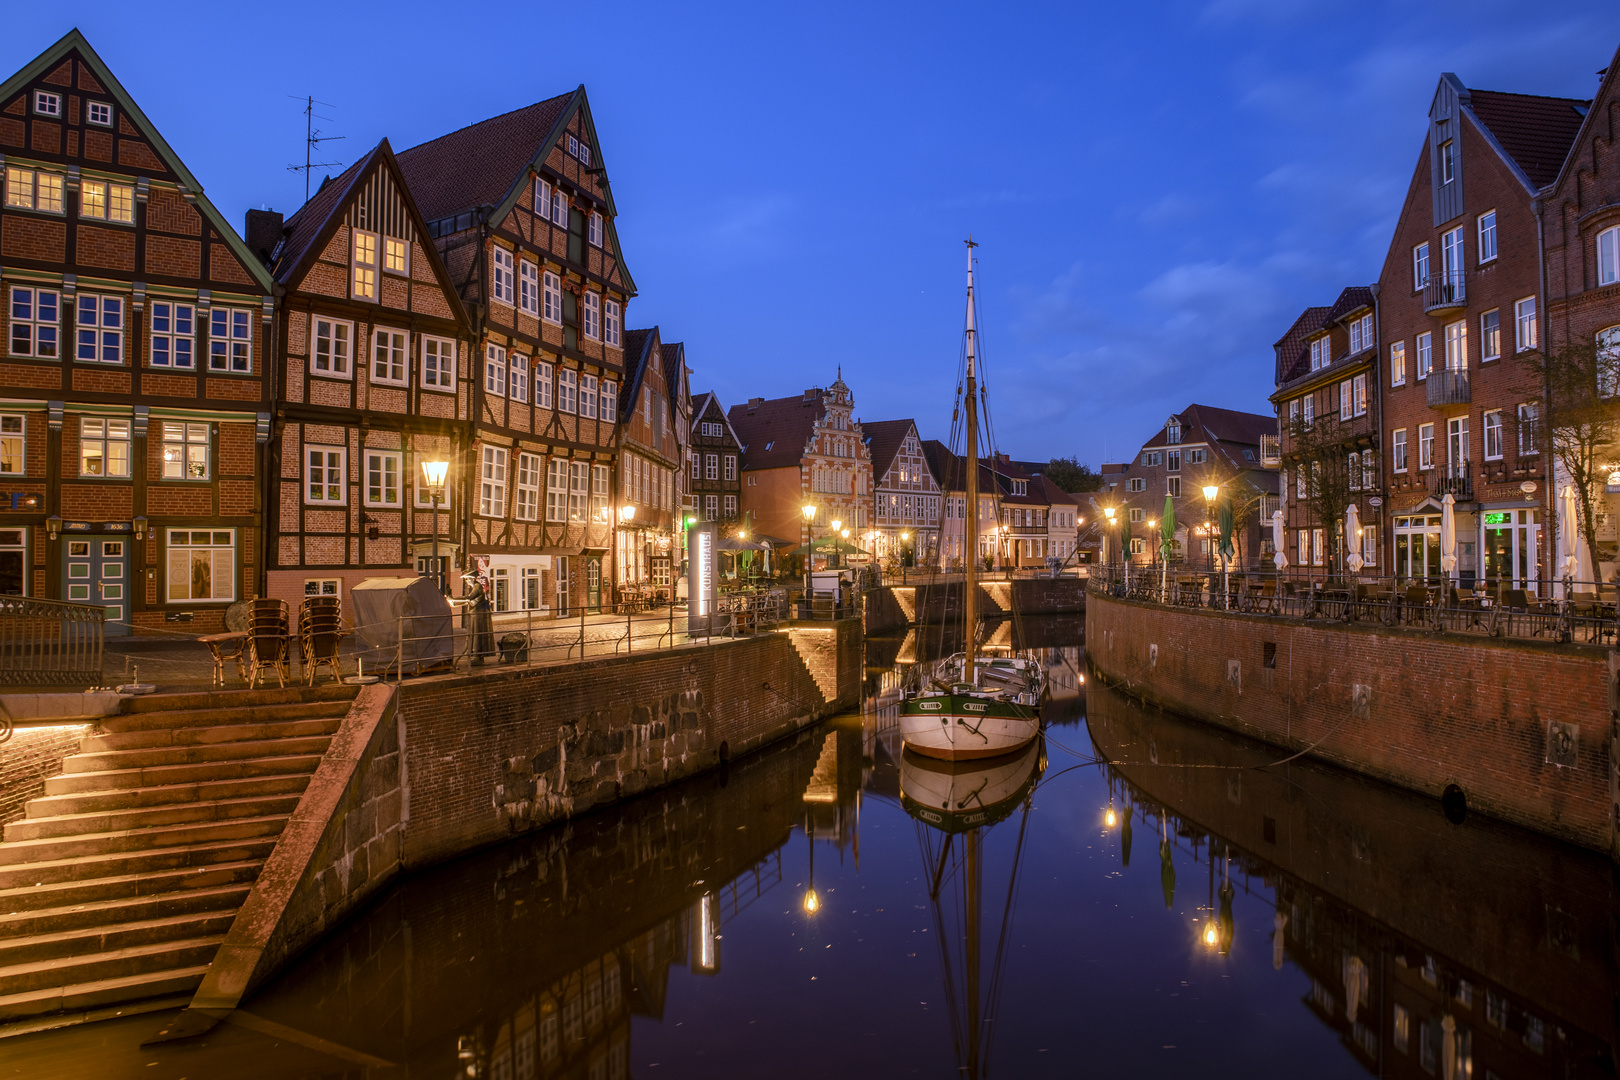
[[[863,712],[407,881],[204,1040],[8,1040],[0,1075],[1614,1075],[1607,860],[1260,767],[1027,630],[1059,688],[993,824],[902,805],[935,646],[875,641]]]

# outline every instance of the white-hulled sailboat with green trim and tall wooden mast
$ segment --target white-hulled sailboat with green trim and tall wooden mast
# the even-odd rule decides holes
[[[901,703],[901,742],[928,758],[948,761],[1013,753],[1040,733],[1045,674],[1034,656],[990,654],[978,648],[978,340],[974,309],[974,248],[967,241],[967,325],[961,406],[966,406],[967,507],[962,538],[967,578],[962,585],[964,653],[940,664],[928,688]]]

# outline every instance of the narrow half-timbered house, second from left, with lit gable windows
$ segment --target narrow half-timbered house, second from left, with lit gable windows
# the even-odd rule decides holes
[[[452,586],[476,466],[471,325],[387,139],[285,227],[249,210],[248,238],[284,290],[269,596],[296,607],[411,573]],[[449,465],[437,520],[431,460]]]

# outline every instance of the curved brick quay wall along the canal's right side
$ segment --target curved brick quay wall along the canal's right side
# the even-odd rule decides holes
[[[1085,643],[1100,678],[1160,708],[1614,852],[1607,649],[1097,593]],[[1573,764],[1554,761],[1562,733]]]

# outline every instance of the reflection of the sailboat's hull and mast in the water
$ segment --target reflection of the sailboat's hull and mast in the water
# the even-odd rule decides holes
[[[1013,929],[1013,902],[1017,871],[1024,855],[1024,836],[1035,782],[1047,767],[1042,740],[1022,751],[991,761],[949,763],[906,753],[901,758],[901,805],[917,819],[917,842],[928,874],[928,899],[933,908],[935,938],[944,980],[944,1002],[951,1017],[951,1040],[959,1072],[970,1080],[988,1074],[990,1038],[996,1020],[1001,988],[1001,965]],[[982,986],[983,925],[983,842],[990,829],[1006,819],[1022,803],[1013,868],[1008,874],[996,931],[996,952],[990,965],[988,988]],[[961,845],[956,844],[961,837]],[[953,858],[961,847],[961,858]],[[956,886],[961,895],[959,921],[946,933],[944,892]],[[956,965],[951,941],[962,942],[962,996],[957,999]],[[988,1030],[987,1030],[988,1028]]]

